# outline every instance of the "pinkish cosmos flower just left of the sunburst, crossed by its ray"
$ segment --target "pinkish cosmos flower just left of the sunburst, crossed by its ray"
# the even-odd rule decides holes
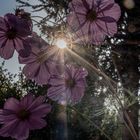
[[[55,64],[52,61],[52,55],[55,50],[49,45],[45,45],[43,40],[39,41],[38,39],[29,39],[31,52],[28,57],[22,57],[24,51],[21,52],[19,63],[26,64],[23,68],[23,73],[27,79],[35,81],[38,85],[45,85],[50,79],[50,74],[55,70]]]

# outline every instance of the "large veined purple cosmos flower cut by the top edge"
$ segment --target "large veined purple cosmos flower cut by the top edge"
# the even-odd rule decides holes
[[[77,42],[99,45],[117,32],[121,11],[114,0],[72,0],[67,22]]]

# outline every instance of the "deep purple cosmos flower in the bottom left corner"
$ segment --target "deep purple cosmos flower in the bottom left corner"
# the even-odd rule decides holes
[[[46,126],[42,119],[50,111],[51,106],[44,103],[45,98],[35,98],[32,94],[24,96],[21,101],[9,98],[0,110],[0,135],[12,137],[17,140],[25,140],[29,136],[29,130],[41,129]]]

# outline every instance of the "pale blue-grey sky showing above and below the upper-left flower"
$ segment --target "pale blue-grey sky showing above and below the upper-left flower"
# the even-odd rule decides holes
[[[16,0],[0,0],[0,16],[3,16],[8,12],[13,13],[17,5],[18,3],[16,3]],[[36,28],[34,30],[37,31]],[[0,65],[3,61],[4,59],[0,57]],[[9,72],[17,74],[19,71],[19,67],[23,67],[23,65],[18,63],[18,56],[16,52],[11,59],[5,60],[5,68],[7,68]]]

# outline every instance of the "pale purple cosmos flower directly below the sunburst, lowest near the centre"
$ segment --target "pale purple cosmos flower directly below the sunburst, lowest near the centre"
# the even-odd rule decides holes
[[[63,75],[52,76],[47,96],[60,104],[75,104],[84,95],[87,76],[84,68],[66,65]]]

